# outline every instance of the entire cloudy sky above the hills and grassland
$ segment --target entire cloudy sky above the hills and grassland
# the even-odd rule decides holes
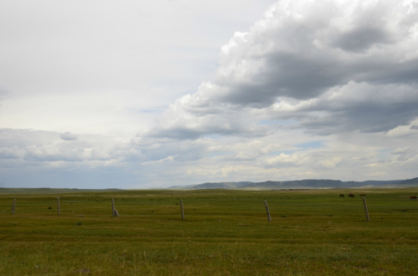
[[[0,187],[418,177],[418,1],[0,2]]]

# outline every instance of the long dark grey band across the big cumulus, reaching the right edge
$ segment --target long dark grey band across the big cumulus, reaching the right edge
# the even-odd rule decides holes
[[[323,53],[318,56],[274,53],[263,60],[265,66],[251,76],[252,82],[229,83],[229,92],[216,100],[264,108],[274,104],[278,97],[311,99],[349,81],[377,85],[418,82],[418,58],[394,60],[371,55],[353,56],[349,60]]]

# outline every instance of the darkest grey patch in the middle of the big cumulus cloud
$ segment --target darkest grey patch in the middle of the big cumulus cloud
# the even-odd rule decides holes
[[[295,99],[316,97],[327,88],[348,80],[343,72],[345,66],[335,65],[327,58],[270,54],[265,57],[265,68],[253,76],[253,83],[240,83],[222,100],[263,108],[274,104],[278,96]]]

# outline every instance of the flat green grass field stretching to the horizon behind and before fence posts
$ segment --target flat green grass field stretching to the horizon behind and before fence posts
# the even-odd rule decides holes
[[[0,195],[0,275],[417,275],[409,195],[418,189]]]

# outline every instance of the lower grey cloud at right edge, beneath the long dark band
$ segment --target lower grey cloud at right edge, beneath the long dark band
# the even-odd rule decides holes
[[[416,86],[349,83],[329,95],[299,104],[291,111],[279,110],[276,120],[294,119],[298,123],[293,127],[320,135],[381,132],[416,120],[417,106]]]

